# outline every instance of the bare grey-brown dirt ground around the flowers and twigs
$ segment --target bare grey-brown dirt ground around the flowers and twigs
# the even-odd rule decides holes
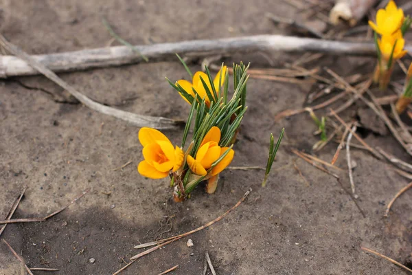
[[[1,32],[30,54],[102,47],[111,39],[103,15],[131,43],[161,43],[249,34],[281,33],[264,12],[292,16],[284,1],[52,1],[1,0]],[[229,31],[229,27],[233,30]],[[299,55],[275,54],[277,67]],[[226,61],[267,66],[260,54]],[[342,75],[357,58],[323,60]],[[192,69],[200,67],[193,65]],[[370,69],[370,67],[369,67]],[[185,118],[189,106],[176,96],[164,76],[186,77],[177,63],[155,63],[64,74],[62,78],[91,98],[146,115]],[[139,129],[82,107],[54,101],[62,89],[41,76],[0,81],[0,217],[28,186],[14,217],[38,217],[64,206],[82,190],[78,203],[43,223],[8,225],[1,238],[22,254],[30,267],[58,267],[54,274],[112,274],[137,254],[133,245],[186,232],[233,206],[249,187],[253,192],[238,210],[207,230],[139,259],[123,274],[201,274],[208,251],[218,274],[407,274],[391,263],[365,254],[374,249],[401,263],[411,261],[412,192],[407,192],[384,219],[386,205],[407,180],[364,151],[352,149],[359,206],[329,175],[301,159],[288,146],[310,150],[318,137],[308,115],[274,122],[283,109],[300,107],[308,87],[249,80],[249,110],[244,119],[233,166],[263,166],[268,135],[286,127],[284,140],[266,188],[262,171],[222,173],[215,195],[199,186],[192,199],[174,203],[168,181],[141,177]],[[345,113],[348,118],[352,111]],[[104,126],[101,128],[101,124]],[[100,133],[101,129],[101,133]],[[176,144],[182,131],[166,134]],[[411,160],[390,135],[365,140]],[[336,144],[319,154],[332,159]],[[124,170],[113,171],[133,160]],[[345,168],[344,153],[338,165]],[[349,189],[347,174],[342,182]],[[110,192],[111,195],[105,195]],[[113,206],[115,206],[113,208]],[[89,263],[94,258],[95,263]],[[0,243],[0,274],[23,274]],[[36,272],[36,274],[46,274]]]

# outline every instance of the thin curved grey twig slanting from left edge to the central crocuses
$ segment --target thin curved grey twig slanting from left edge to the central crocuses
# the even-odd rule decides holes
[[[72,96],[74,96],[77,100],[82,102],[82,104],[89,107],[90,109],[93,109],[100,113],[104,113],[105,115],[114,116],[115,118],[119,118],[120,120],[125,120],[139,127],[148,126],[148,127],[152,127],[156,129],[174,129],[178,127],[179,124],[183,123],[183,122],[179,122],[176,120],[170,120],[168,118],[153,117],[153,116],[148,116],[148,115],[137,115],[136,113],[122,111],[122,110],[115,109],[113,107],[108,107],[98,102],[95,102],[91,100],[90,98],[88,98],[87,96],[84,96],[84,94],[81,94],[74,87],[72,87],[71,85],[66,83],[64,80],[59,78],[56,74],[54,74],[54,72],[52,72],[50,69],[46,67],[47,65],[43,65],[43,63],[39,62],[36,58],[33,58],[32,56],[26,54],[25,52],[20,50],[15,45],[8,42],[4,38],[4,36],[1,34],[0,34],[0,45],[4,47],[5,50],[8,50],[8,52],[21,58],[21,60],[25,61],[25,63],[30,65],[30,67],[32,67],[36,71],[40,72],[41,74],[49,78],[49,80],[52,80],[54,83],[56,83],[57,85],[59,85],[60,87],[68,91]],[[76,58],[73,57],[73,59],[76,59]]]

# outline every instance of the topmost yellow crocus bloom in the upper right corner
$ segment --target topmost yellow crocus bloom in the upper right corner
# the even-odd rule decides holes
[[[369,25],[375,32],[383,35],[391,35],[400,30],[404,22],[404,12],[396,6],[395,1],[391,0],[384,9],[376,13],[376,24],[369,21]]]

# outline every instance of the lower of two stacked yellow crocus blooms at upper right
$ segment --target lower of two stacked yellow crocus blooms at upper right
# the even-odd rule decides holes
[[[395,45],[395,49],[393,49],[393,45]],[[405,41],[402,37],[402,32],[398,30],[395,34],[392,35],[382,35],[382,39],[378,40],[378,46],[382,57],[385,60],[389,60],[393,50],[393,60],[397,60],[402,58],[405,54],[407,54],[406,50],[403,50],[405,45]]]

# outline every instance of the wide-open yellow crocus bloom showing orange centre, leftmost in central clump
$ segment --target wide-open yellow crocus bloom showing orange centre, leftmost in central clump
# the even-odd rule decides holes
[[[175,172],[182,166],[185,157],[183,150],[179,146],[174,147],[160,131],[143,127],[139,131],[139,141],[143,145],[144,160],[137,170],[144,177],[168,177],[170,170]]]

